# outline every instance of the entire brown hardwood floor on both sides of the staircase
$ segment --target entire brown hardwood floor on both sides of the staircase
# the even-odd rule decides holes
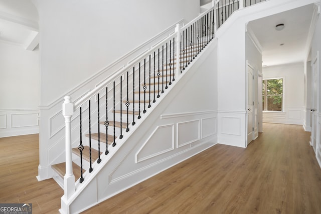
[[[83,213],[321,213],[321,169],[302,126],[264,124],[246,149],[216,145]],[[38,182],[38,135],[0,138],[0,203],[58,213],[63,190]]]

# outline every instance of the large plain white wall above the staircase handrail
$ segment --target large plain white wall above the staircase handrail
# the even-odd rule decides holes
[[[197,0],[33,2],[41,35],[42,106],[181,19],[197,17],[200,11]]]

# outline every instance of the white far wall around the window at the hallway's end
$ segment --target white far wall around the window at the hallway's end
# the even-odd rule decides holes
[[[263,122],[303,124],[304,64],[263,67],[263,79],[283,78],[283,112],[263,112]]]

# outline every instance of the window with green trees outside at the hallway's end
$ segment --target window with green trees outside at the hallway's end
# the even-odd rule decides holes
[[[283,78],[263,80],[263,111],[283,111]]]

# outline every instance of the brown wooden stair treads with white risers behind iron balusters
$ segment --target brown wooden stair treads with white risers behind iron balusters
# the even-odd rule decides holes
[[[211,39],[208,39],[208,42],[210,42]],[[205,41],[205,39],[201,40]],[[183,65],[180,66],[180,70],[185,70],[185,68],[193,61],[193,59],[195,59],[195,57],[197,57],[197,55],[207,46],[208,42],[200,42],[197,45],[192,45],[188,46],[188,48],[185,48],[184,53],[182,51],[178,58],[180,64],[183,63]],[[132,99],[128,100],[127,105],[129,104],[128,106],[134,106],[133,109],[140,109],[144,104],[145,106],[147,106],[147,108],[149,108],[152,103],[155,103],[156,99],[159,98],[162,93],[164,93],[164,90],[168,89],[168,87],[175,81],[174,73],[172,73],[172,70],[173,64],[175,66],[177,65],[176,61],[177,58],[175,54],[175,56],[170,59],[170,62],[173,63],[164,64],[164,71],[163,68],[161,70],[155,70],[155,73],[159,73],[159,76],[152,74],[150,78],[144,79],[145,84],[141,84],[139,86],[140,89],[135,89],[134,93],[131,92],[131,95],[129,97]],[[163,74],[164,72],[166,73],[166,69],[168,69],[168,74]],[[169,74],[170,70],[171,74]],[[149,88],[149,90],[145,89],[144,91],[144,85]],[[144,96],[147,96],[147,99],[140,99],[140,97]],[[75,182],[77,180],[81,180],[81,177],[83,176],[82,174],[85,173],[85,169],[91,168],[90,160],[91,163],[101,161],[100,155],[103,154],[101,148],[106,148],[106,143],[108,144],[107,147],[112,146],[113,142],[117,141],[117,138],[123,138],[123,133],[129,131],[128,126],[130,125],[130,123],[126,122],[127,117],[132,118],[132,120],[134,121],[135,118],[140,118],[140,115],[144,114],[144,110],[128,110],[127,114],[127,110],[123,110],[127,108],[126,102],[126,99],[122,99],[122,101],[120,102],[123,104],[122,109],[120,109],[119,107],[119,109],[112,110],[111,117],[114,120],[108,121],[107,132],[105,125],[107,121],[106,119],[106,121],[99,121],[99,132],[85,134],[86,141],[91,141],[91,147],[88,145],[84,146],[82,154],[80,154],[79,152],[79,147],[72,148],[72,168],[73,174],[75,175]],[[134,123],[131,123],[131,125],[134,125]],[[66,162],[53,164],[51,166],[55,172],[53,178],[62,188],[64,188],[64,176],[66,173],[65,166]]]

